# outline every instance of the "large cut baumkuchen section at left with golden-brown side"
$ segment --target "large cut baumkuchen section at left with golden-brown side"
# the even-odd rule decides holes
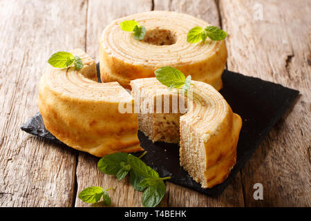
[[[117,82],[97,83],[96,64],[82,50],[73,50],[83,68],[53,68],[48,64],[39,81],[39,111],[55,137],[79,151],[102,157],[115,152],[142,151],[138,116],[120,113],[120,102],[133,97]]]

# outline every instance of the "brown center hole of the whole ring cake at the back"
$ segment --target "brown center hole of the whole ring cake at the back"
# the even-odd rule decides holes
[[[142,41],[156,46],[168,46],[176,43],[176,34],[171,32],[171,30],[160,28],[146,30]]]

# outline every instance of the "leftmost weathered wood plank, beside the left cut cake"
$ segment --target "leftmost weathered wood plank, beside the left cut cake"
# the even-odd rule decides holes
[[[71,206],[75,151],[19,127],[38,111],[49,55],[84,47],[86,4],[1,1],[0,17],[0,206]]]

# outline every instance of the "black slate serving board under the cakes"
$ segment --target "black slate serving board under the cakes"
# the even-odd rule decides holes
[[[153,167],[153,169],[156,169],[161,177],[171,176],[169,182],[186,186],[214,197],[223,193],[229,182],[269,133],[272,126],[279,121],[297,95],[299,95],[298,90],[285,88],[280,84],[263,81],[255,77],[233,73],[229,70],[224,71],[222,78],[223,89],[220,90],[220,93],[225,97],[234,113],[237,113],[243,119],[243,126],[238,140],[236,165],[222,184],[218,184],[210,189],[202,189],[200,184],[192,180],[180,166],[179,146],[177,144],[166,144],[164,142],[153,144],[142,132],[138,132],[142,148],[148,151],[147,155],[142,157],[142,160]],[[97,79],[100,81],[98,65]],[[23,124],[21,130],[62,144],[46,130],[40,113],[37,113]],[[141,153],[133,154],[140,155]]]

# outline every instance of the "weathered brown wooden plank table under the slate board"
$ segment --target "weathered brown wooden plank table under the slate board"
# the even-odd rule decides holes
[[[98,39],[113,19],[149,10],[200,17],[227,31],[227,68],[300,90],[218,198],[167,182],[160,206],[311,206],[311,1],[0,1],[0,206],[89,206],[87,186],[113,187],[112,206],[142,206],[129,180],[97,170],[99,158],[22,132],[37,113],[48,57],[83,48],[99,61]],[[263,184],[263,200],[253,186]],[[93,206],[100,206],[95,204]]]

